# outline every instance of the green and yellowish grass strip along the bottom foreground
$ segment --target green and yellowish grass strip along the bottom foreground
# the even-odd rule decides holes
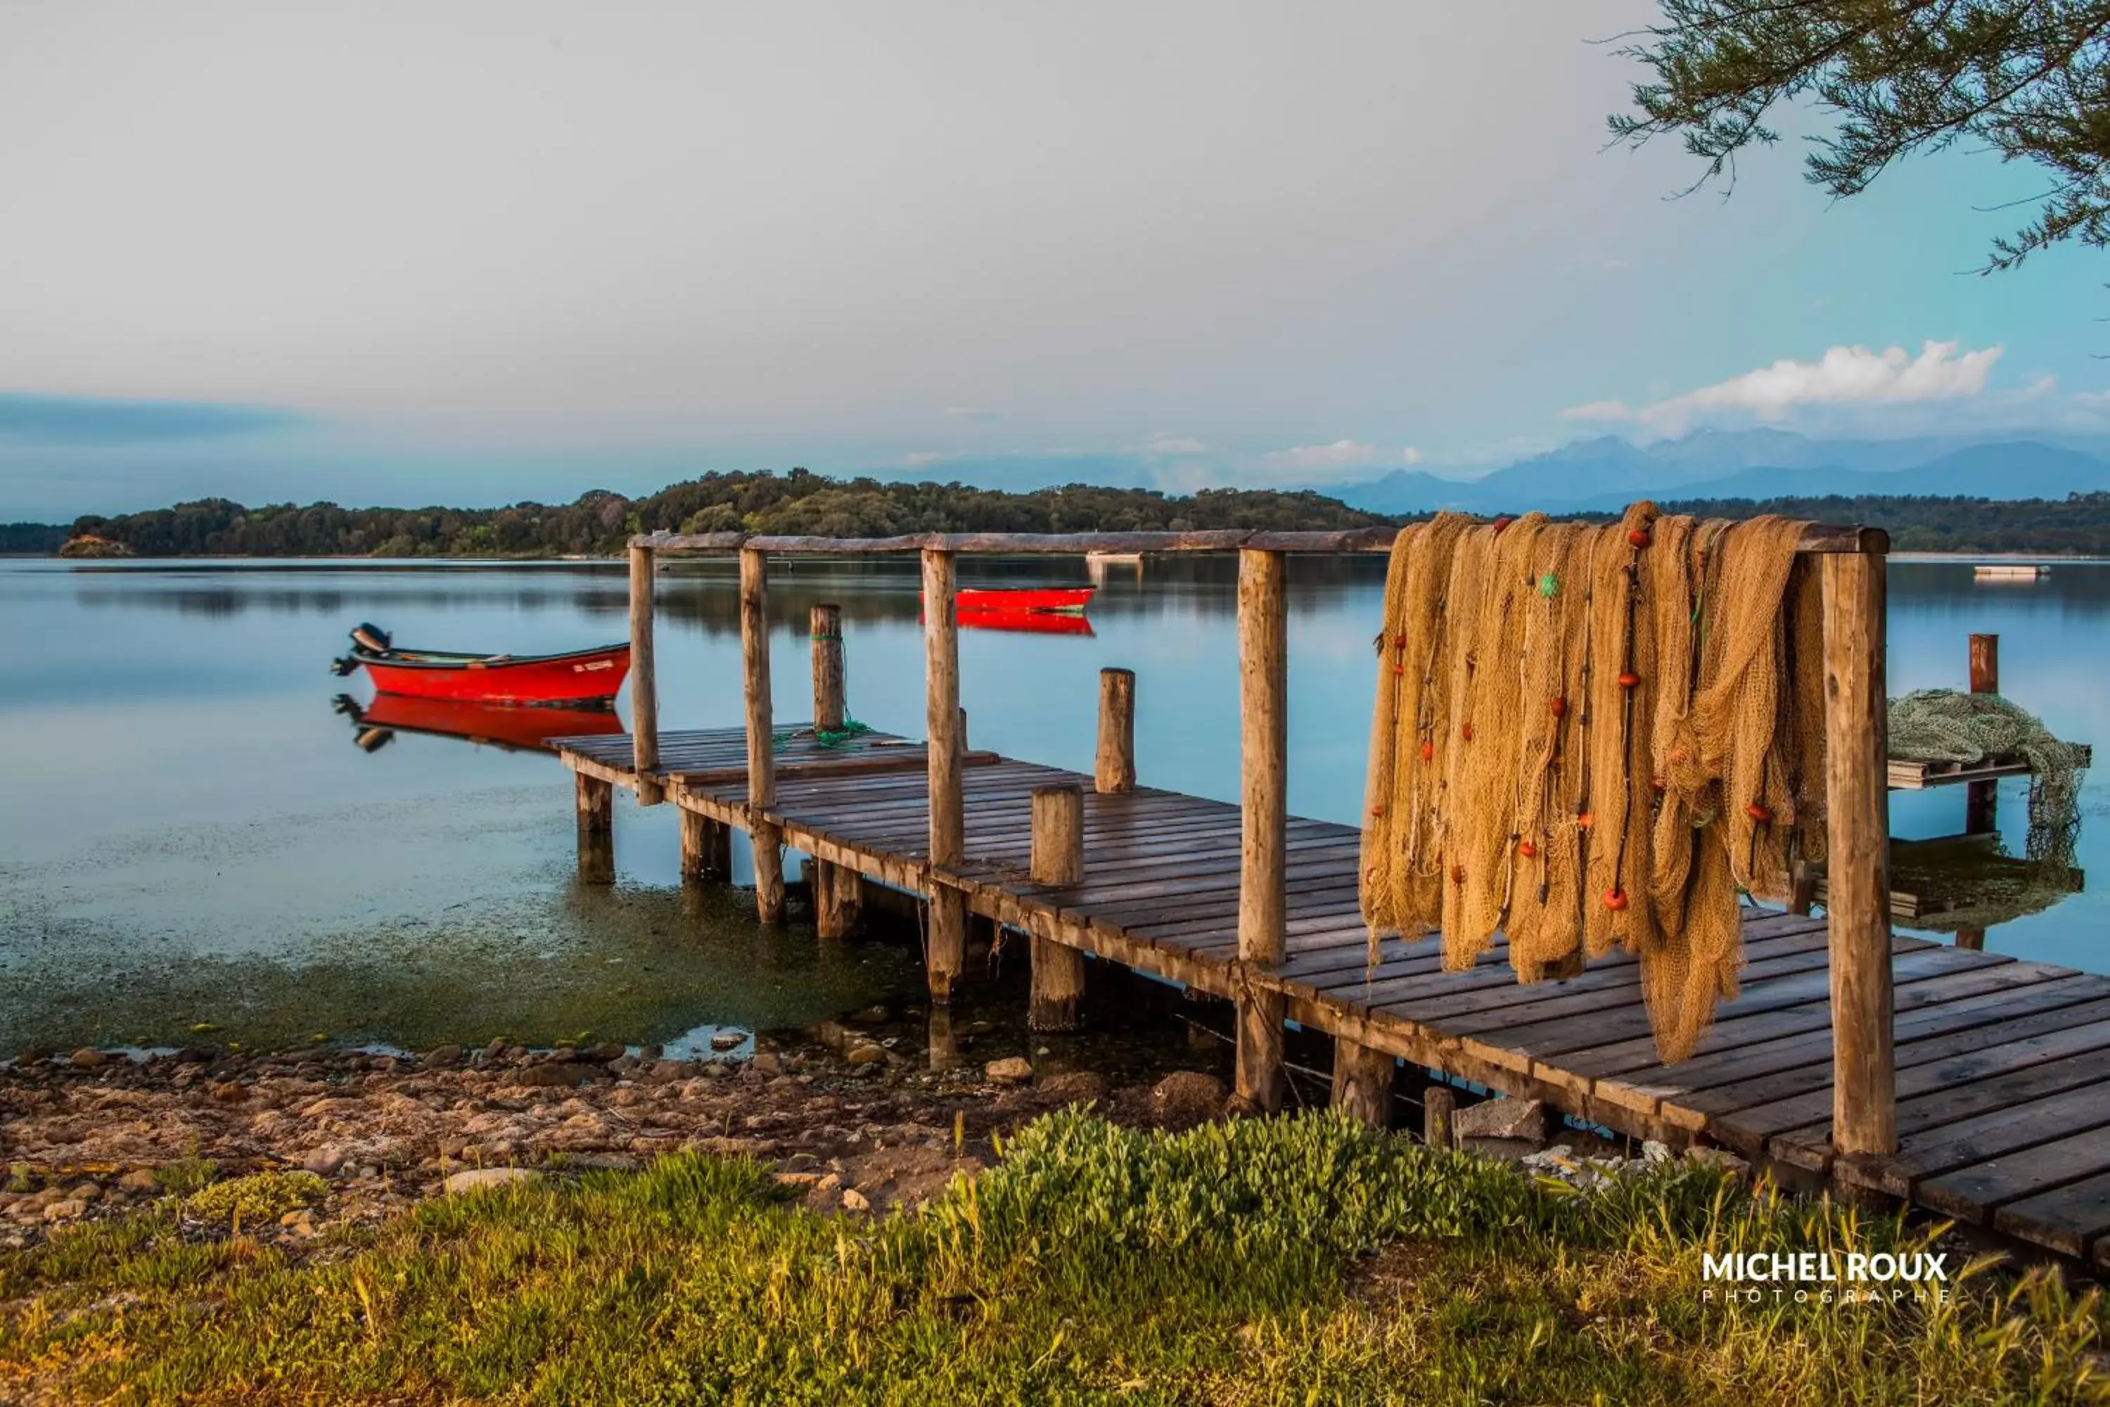
[[[1578,1194],[1331,1116],[1049,1116],[920,1213],[675,1156],[340,1234],[167,1204],[0,1257],[0,1399],[127,1403],[2104,1401],[2106,1314],[1977,1268],[1926,1304],[1701,1299],[1703,1251],[1918,1245],[1665,1167]]]

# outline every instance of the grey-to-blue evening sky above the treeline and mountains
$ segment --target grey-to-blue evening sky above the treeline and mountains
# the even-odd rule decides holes
[[[1654,13],[0,0],[0,519],[2110,430],[2104,257],[1975,272],[2038,177],[1680,198]]]

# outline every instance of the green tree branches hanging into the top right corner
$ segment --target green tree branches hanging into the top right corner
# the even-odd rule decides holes
[[[2038,217],[1994,240],[1986,272],[2068,238],[2110,245],[2110,0],[1661,0],[1620,53],[1654,70],[1612,133],[1677,133],[1734,181],[1772,143],[1766,114],[1815,97],[1836,118],[1806,177],[1855,196],[1897,158],[1962,137],[2051,175]]]

